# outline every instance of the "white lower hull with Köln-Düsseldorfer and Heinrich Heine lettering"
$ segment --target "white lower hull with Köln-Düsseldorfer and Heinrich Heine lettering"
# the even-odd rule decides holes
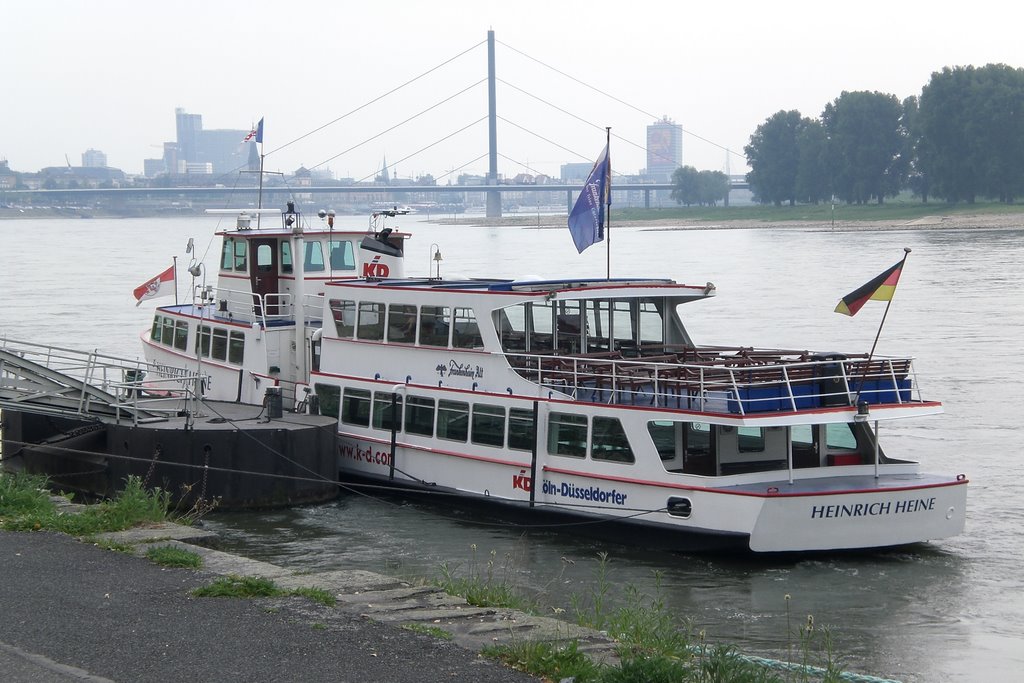
[[[679,551],[742,549],[757,553],[861,550],[903,546],[961,533],[967,481],[914,473],[848,475],[717,485],[698,477],[654,481],[537,467],[427,447],[339,435],[342,480],[370,479],[402,490],[487,502],[508,509],[606,522],[628,537]],[[528,456],[527,456],[528,457]],[[394,466],[392,467],[392,462]],[[861,468],[862,469],[862,468]],[[733,478],[735,479],[735,478]],[[637,535],[638,530],[644,533]]]

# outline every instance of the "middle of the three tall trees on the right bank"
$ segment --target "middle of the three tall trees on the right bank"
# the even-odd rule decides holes
[[[844,91],[821,113],[836,195],[865,204],[895,196],[903,185],[903,106],[895,95]]]

